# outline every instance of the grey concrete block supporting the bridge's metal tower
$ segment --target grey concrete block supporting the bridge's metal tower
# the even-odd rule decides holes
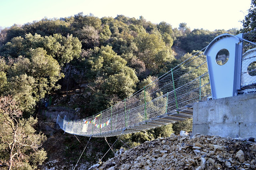
[[[256,93],[194,103],[192,131],[256,138]]]

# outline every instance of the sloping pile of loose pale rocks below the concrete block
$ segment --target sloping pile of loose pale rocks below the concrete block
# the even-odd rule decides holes
[[[170,137],[146,141],[130,150],[120,152],[102,165],[95,165],[90,169],[256,169],[256,143],[242,138],[172,134]]]

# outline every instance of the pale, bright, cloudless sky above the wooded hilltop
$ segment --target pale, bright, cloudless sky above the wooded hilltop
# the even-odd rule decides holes
[[[154,24],[165,21],[192,30],[241,28],[251,0],[0,0],[0,26],[25,24],[47,18],[64,18],[79,12],[98,18],[124,15]]]

